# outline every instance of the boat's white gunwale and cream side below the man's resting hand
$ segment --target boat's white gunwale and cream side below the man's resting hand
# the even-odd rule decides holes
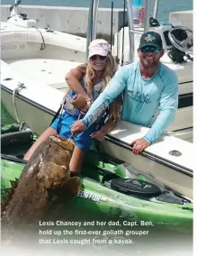
[[[143,138],[147,132],[148,128],[120,121],[100,144],[99,150],[193,198],[193,143],[163,135],[140,155],[134,155],[130,143]]]

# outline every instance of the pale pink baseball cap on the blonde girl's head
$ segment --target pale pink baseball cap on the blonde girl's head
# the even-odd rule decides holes
[[[103,39],[95,39],[94,41],[91,41],[89,45],[88,58],[91,58],[94,55],[107,56],[110,50],[110,44],[107,41]]]

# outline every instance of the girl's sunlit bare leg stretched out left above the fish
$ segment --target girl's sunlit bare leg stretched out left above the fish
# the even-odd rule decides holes
[[[26,152],[26,154],[23,157],[23,160],[30,160],[31,155],[38,148],[38,146],[40,145],[41,142],[45,142],[48,139],[49,136],[57,135],[57,134],[58,134],[57,131],[54,130],[53,128],[51,128],[51,127],[49,127],[47,130],[45,130],[44,133],[42,133],[40,135],[38,140],[35,143],[32,144],[29,151]]]

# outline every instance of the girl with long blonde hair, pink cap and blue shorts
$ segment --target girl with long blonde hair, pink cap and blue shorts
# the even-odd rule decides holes
[[[103,92],[115,70],[115,62],[108,42],[102,39],[92,41],[87,63],[72,69],[66,76],[69,91],[63,106],[64,112],[60,113],[50,127],[40,135],[37,142],[25,154],[24,160],[29,160],[40,143],[49,136],[59,134],[74,140],[76,147],[69,167],[72,172],[80,172],[85,151],[89,151],[93,138],[102,141],[104,135],[114,127],[121,112],[121,96],[110,105],[108,113],[106,110],[101,113],[99,119],[84,133],[79,133],[75,137],[75,134],[71,133],[70,126],[77,119],[85,116],[85,112]]]

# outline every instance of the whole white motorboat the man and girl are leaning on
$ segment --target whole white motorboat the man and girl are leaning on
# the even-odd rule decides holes
[[[19,121],[40,134],[49,127],[67,91],[65,75],[70,69],[85,63],[85,39],[43,29],[19,28],[8,23],[2,25],[2,102],[13,118],[17,113]],[[168,132],[192,141],[193,64],[175,65],[167,56],[164,62],[175,69],[180,82],[180,107]],[[23,88],[17,91],[19,83]],[[140,156],[134,156],[130,142],[143,137],[146,129],[140,127],[136,130],[134,124],[128,126],[128,123],[120,122],[110,133],[111,137],[101,143],[101,149],[193,198],[193,143],[164,135]],[[124,136],[119,130],[125,131]],[[171,156],[169,151],[181,151],[182,155]]]

